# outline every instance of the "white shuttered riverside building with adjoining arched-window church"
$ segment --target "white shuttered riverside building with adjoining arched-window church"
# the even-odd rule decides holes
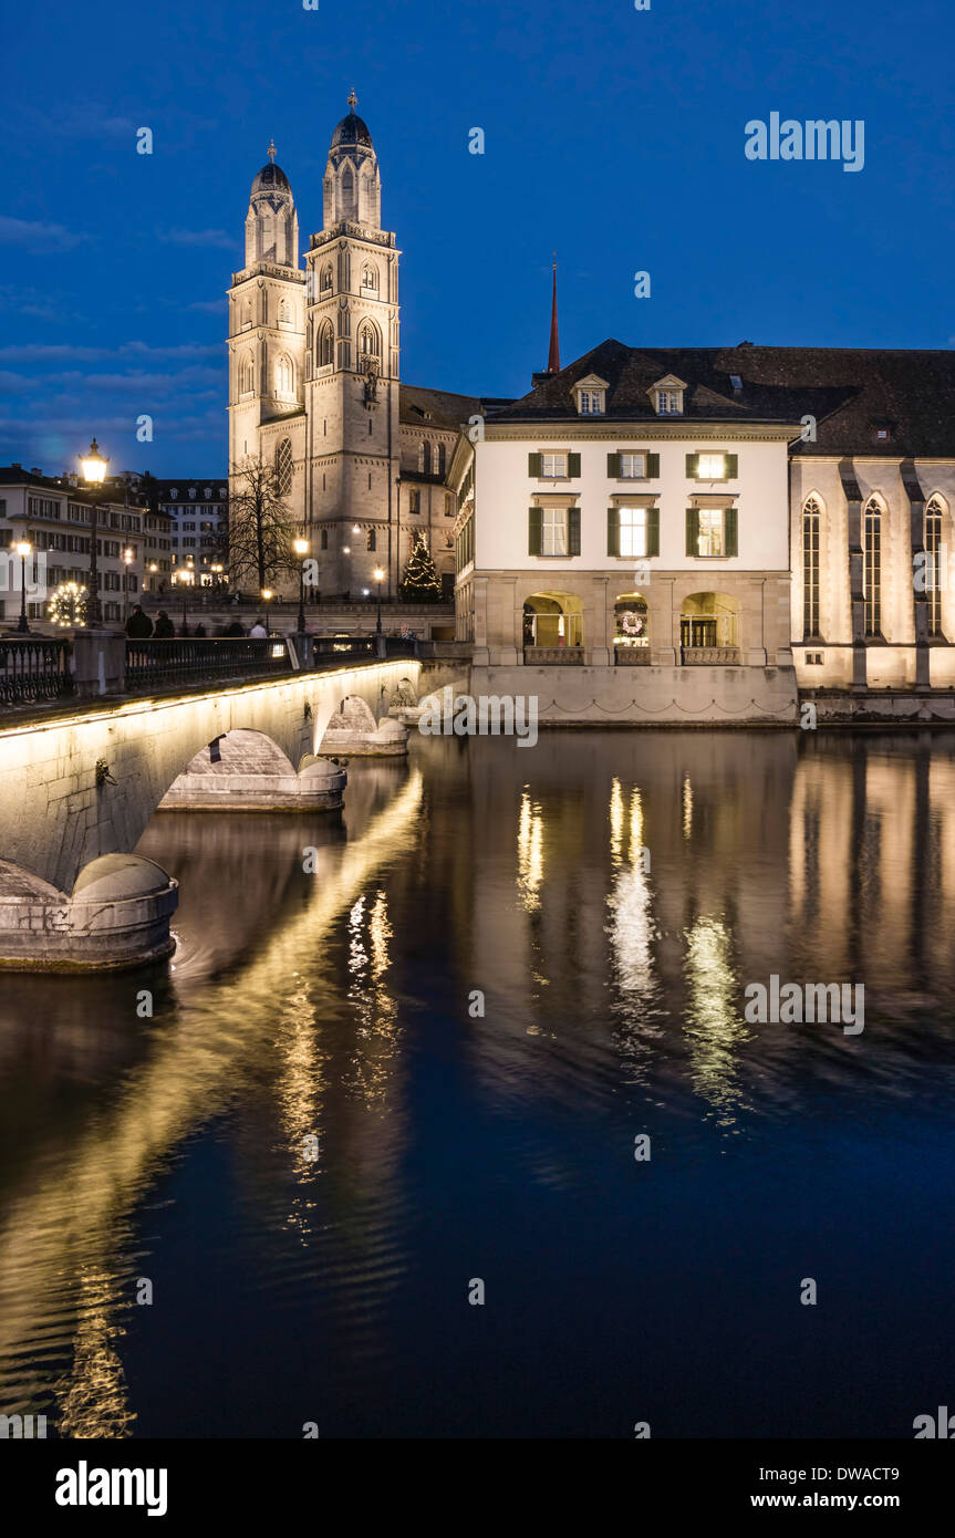
[[[606,341],[454,458],[475,663],[955,684],[950,352]]]

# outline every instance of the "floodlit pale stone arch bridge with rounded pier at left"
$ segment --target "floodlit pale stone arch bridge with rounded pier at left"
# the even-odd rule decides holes
[[[411,658],[349,663],[78,703],[0,727],[0,966],[117,966],[168,954],[175,883],[132,851],[195,755],[241,732],[248,764],[249,734],[260,734],[263,774],[275,774],[277,760],[308,774],[303,761],[320,751],[343,700],[363,700],[378,720],[398,691],[418,695],[444,672],[451,678]]]

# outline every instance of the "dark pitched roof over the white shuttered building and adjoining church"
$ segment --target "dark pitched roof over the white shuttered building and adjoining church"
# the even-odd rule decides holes
[[[597,372],[609,381],[606,418],[660,420],[647,391],[664,374],[687,381],[683,420],[817,418],[817,441],[797,454],[955,457],[955,352],[863,348],[627,348],[609,338],[552,378],[540,378],[492,421],[577,418],[572,389]],[[732,378],[740,380],[734,389]],[[674,418],[664,418],[672,421]],[[887,428],[889,437],[877,431]]]

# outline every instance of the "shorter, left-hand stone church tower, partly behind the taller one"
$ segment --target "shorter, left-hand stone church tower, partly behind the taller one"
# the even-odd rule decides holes
[[[289,180],[269,160],[252,181],[246,260],[229,289],[229,489],[249,460],[275,464],[304,520],[304,274]]]

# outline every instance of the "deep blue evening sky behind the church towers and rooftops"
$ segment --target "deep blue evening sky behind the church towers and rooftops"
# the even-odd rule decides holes
[[[249,185],[274,135],[304,249],[352,86],[403,249],[409,383],[523,394],[552,249],[564,363],[609,335],[955,337],[947,0],[54,0],[5,34],[2,463],[72,468],[95,431],[115,466],[223,474]],[[861,118],[863,171],[747,160],[772,111]]]

